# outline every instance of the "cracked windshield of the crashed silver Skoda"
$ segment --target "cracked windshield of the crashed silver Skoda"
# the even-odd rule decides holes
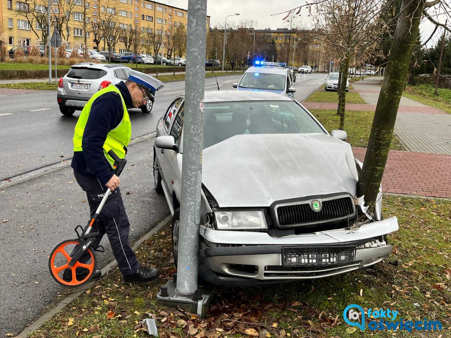
[[[324,133],[294,101],[238,101],[206,103],[203,148],[241,134]]]

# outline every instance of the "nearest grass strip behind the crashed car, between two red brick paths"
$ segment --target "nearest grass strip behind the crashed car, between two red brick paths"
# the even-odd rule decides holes
[[[358,94],[358,93],[355,93]],[[310,109],[309,110],[319,122],[329,132],[338,129],[340,125],[340,116],[333,109]],[[373,111],[346,110],[345,111],[345,128],[348,133],[348,142],[353,147],[364,147],[368,145],[369,134],[373,124]],[[393,134],[390,149],[406,150],[400,143],[398,137]]]

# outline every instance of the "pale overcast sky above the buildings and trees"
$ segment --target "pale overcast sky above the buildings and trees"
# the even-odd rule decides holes
[[[449,0],[445,0],[449,1]],[[176,7],[188,8],[188,0],[160,0],[164,4],[173,5]],[[282,18],[286,14],[271,15],[283,12],[294,8],[295,6],[304,5],[304,0],[229,0],[229,1],[208,1],[207,2],[207,15],[211,16],[210,26],[224,25],[224,19],[227,15],[239,13],[239,16],[229,17],[227,19],[227,26],[234,21],[239,23],[241,20],[255,19],[258,20],[258,27],[256,28],[272,28],[286,27],[287,23],[282,21]],[[308,17],[308,10],[302,9],[299,21],[306,26],[312,25],[312,17]],[[434,17],[437,20],[437,17]],[[439,16],[438,20],[442,23],[445,22],[444,16]],[[449,20],[448,20],[449,21]],[[424,20],[420,26],[421,36],[425,41],[433,32],[434,25],[428,20]],[[429,41],[428,46],[432,46],[439,39],[443,32],[443,29],[438,29],[433,37],[432,41]]]

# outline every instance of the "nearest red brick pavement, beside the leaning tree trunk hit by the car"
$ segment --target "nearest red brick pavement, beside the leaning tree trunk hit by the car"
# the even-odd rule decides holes
[[[363,161],[365,148],[352,148]],[[451,155],[391,150],[382,190],[398,194],[451,197]]]

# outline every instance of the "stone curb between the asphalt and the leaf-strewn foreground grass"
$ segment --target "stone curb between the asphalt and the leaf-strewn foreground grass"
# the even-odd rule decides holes
[[[150,238],[154,233],[156,233],[158,230],[160,230],[163,225],[165,225],[167,222],[172,219],[172,215],[166,216],[166,218],[162,219],[152,230],[150,230],[148,233],[146,233],[143,237],[138,239],[137,242],[135,242],[132,246],[133,251],[136,250],[138,246],[140,246],[146,239]],[[103,269],[101,269],[102,276],[105,276],[109,271],[111,271],[115,266],[117,265],[116,260],[112,260],[110,263],[108,263]],[[58,312],[60,312],[64,306],[68,305],[71,301],[76,299],[78,296],[80,296],[82,293],[85,292],[86,288],[91,287],[93,284],[97,283],[96,281],[92,281],[88,283],[87,285],[83,285],[82,290],[78,290],[69,296],[65,297],[62,301],[60,301],[58,304],[56,304],[54,307],[52,307],[49,311],[46,311],[41,317],[39,317],[37,320],[35,320],[28,328],[24,329],[21,333],[19,333],[16,338],[26,338],[31,333],[39,329],[42,324],[46,322],[46,320],[49,320],[54,315],[56,315]]]

